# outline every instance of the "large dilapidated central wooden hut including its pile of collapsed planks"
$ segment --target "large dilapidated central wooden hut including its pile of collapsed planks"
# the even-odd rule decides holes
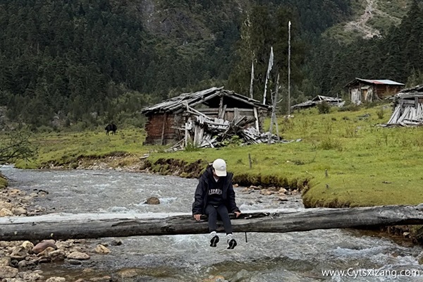
[[[269,110],[270,106],[223,87],[180,94],[142,111],[148,119],[145,144],[173,145],[171,150],[188,144],[219,147],[235,135],[243,144],[269,139],[271,143],[288,142],[261,133]]]

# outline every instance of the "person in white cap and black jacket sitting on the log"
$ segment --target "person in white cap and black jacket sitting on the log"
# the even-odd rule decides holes
[[[228,214],[228,212],[235,213],[236,217],[241,214],[235,203],[232,178],[233,173],[226,172],[226,162],[223,159],[216,159],[202,173],[195,190],[192,214],[197,221],[200,221],[202,214],[207,214],[211,247],[216,247],[219,243],[219,236],[216,233],[218,214],[225,228],[227,248],[233,249],[237,245],[233,238],[232,223]]]

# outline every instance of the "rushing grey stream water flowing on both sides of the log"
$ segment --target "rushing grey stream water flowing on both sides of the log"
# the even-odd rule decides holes
[[[124,171],[30,171],[4,166],[1,172],[12,187],[33,192],[46,190],[35,205],[46,212],[190,212],[197,180]],[[300,197],[279,202],[274,196],[235,188],[241,211],[303,208]],[[159,197],[161,204],[144,204]],[[111,254],[93,255],[79,266],[44,264],[44,274],[84,277],[82,269],[116,275],[131,268],[137,278],[128,281],[202,281],[223,276],[228,281],[423,281],[417,262],[422,248],[398,245],[388,238],[354,230],[317,230],[293,233],[235,233],[238,246],[209,247],[207,235],[138,236],[118,238]],[[114,238],[85,240],[94,247]],[[324,276],[322,271],[345,271]],[[401,271],[403,271],[401,273]],[[415,271],[421,277],[400,276]],[[387,275],[391,274],[391,275]],[[74,281],[74,280],[69,280]]]

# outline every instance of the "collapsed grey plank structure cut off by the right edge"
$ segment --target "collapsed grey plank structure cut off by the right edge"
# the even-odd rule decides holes
[[[393,99],[393,114],[386,125],[423,125],[423,85],[401,90]]]

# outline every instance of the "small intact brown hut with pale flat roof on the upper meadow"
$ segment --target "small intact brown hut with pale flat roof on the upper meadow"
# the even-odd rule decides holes
[[[351,102],[373,102],[374,99],[384,99],[392,96],[404,88],[404,84],[393,80],[366,80],[355,78],[345,85],[348,88]]]

